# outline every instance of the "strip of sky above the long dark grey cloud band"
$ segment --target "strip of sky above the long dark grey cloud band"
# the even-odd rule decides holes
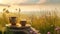
[[[60,0],[0,0],[0,4],[60,4]]]

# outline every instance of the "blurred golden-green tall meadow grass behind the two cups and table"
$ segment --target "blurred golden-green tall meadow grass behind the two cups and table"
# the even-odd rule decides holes
[[[9,23],[9,17],[17,16],[17,22],[20,21],[20,19],[27,19],[27,22],[31,24],[32,27],[39,30],[41,34],[47,34],[47,32],[50,32],[51,34],[56,34],[57,32],[55,32],[55,28],[60,27],[60,17],[57,16],[57,11],[51,12],[47,11],[38,16],[34,13],[31,15],[25,15],[21,13],[3,12],[0,14],[0,31],[4,30],[5,25]]]

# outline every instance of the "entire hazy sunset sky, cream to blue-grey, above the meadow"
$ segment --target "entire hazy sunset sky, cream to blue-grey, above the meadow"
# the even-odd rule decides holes
[[[12,5],[10,8],[12,11],[14,11],[13,8],[20,8],[21,11],[54,10],[54,8],[60,10],[60,0],[0,0],[0,6],[8,5]],[[2,7],[0,7],[0,11],[2,11]]]

